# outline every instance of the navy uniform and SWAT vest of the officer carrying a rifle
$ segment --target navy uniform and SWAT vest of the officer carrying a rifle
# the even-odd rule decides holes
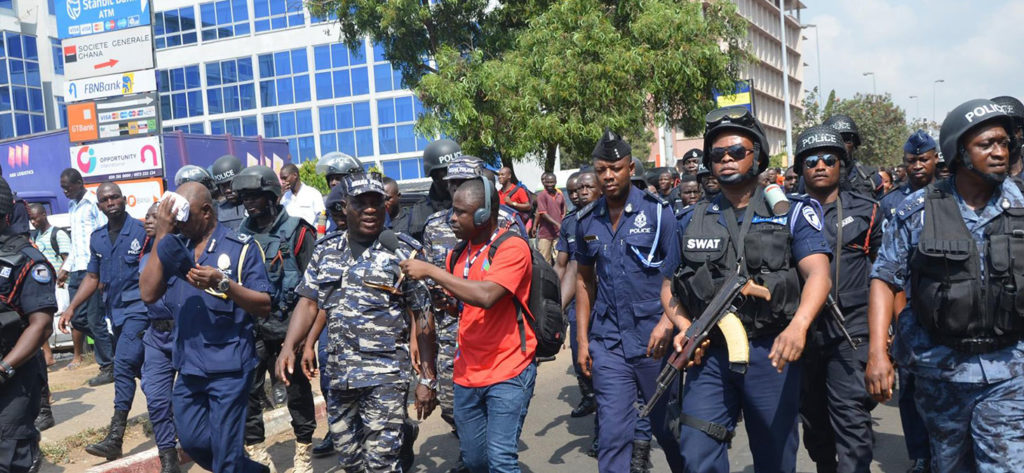
[[[761,187],[755,190],[755,192],[761,191]],[[794,202],[786,215],[774,216],[763,199],[752,200],[750,206],[737,212],[737,222],[742,221],[745,212],[752,210],[755,212],[752,217],[751,232],[746,234],[749,241],[744,246],[748,267],[752,264],[751,255],[754,251],[760,253],[758,259],[763,261],[761,264],[785,266],[790,270],[796,268],[797,263],[805,257],[831,254],[828,243],[821,232],[821,210],[817,202],[796,196],[791,196],[790,199]],[[680,250],[670,255],[666,264],[675,268],[682,263],[682,268],[697,269],[699,274],[706,267],[701,255],[709,254],[705,253],[708,249],[731,252],[732,250],[728,249],[729,243],[723,243],[722,240],[714,242],[716,239],[722,239],[723,234],[728,234],[725,233],[725,229],[728,228],[725,220],[726,205],[728,201],[719,193],[710,203],[684,209],[679,215],[678,231],[681,239],[692,240],[687,240],[680,246]],[[695,216],[697,212],[705,212],[707,215],[701,221],[715,222],[712,224],[717,231],[714,235],[690,236],[687,233],[691,222],[697,221]],[[755,232],[758,234],[754,234]],[[787,238],[779,239],[778,233]],[[771,236],[775,236],[775,240],[769,240]],[[752,245],[755,241],[758,243],[756,246]],[[785,241],[788,241],[788,248],[783,245]],[[781,261],[786,254],[791,256],[791,261]],[[700,264],[697,263],[698,260]],[[760,271],[765,270],[764,266],[760,267]],[[755,274],[755,278],[767,278],[770,274],[770,272],[758,273]],[[784,282],[775,281],[778,286],[769,287],[773,298],[768,307],[773,311],[784,311],[785,315],[792,318],[799,305],[800,287],[793,288]],[[769,286],[767,282],[763,283]],[[715,291],[718,289],[714,288]],[[785,302],[786,300],[788,302]],[[690,317],[695,318],[700,315],[700,310],[689,306],[687,301],[680,302],[686,307]],[[776,304],[786,305],[779,307]],[[745,307],[740,308],[742,310]],[[743,319],[743,315],[740,315],[740,318]],[[765,322],[765,326],[761,324],[761,319],[753,325],[743,319],[743,326],[750,336],[750,364],[745,375],[730,369],[728,353],[721,339],[712,342],[700,364],[687,370],[682,403],[683,426],[679,439],[686,464],[685,471],[700,473],[729,471],[728,440],[736,428],[740,410],[743,413],[755,470],[792,472],[796,469],[802,361],[787,363],[779,374],[771,365],[768,353],[775,337],[788,324],[788,318],[774,320],[771,324]],[[713,438],[711,434],[688,424],[686,419],[717,424],[728,434],[721,440]]]

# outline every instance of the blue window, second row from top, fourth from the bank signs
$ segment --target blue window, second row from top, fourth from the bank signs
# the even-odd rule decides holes
[[[313,66],[317,100],[370,93],[365,45],[354,51],[342,43],[315,46]]]

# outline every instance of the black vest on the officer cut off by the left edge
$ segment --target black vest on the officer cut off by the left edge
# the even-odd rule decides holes
[[[20,282],[32,267],[32,260],[22,252],[31,245],[29,239],[20,235],[0,234],[0,267],[10,271],[0,280],[0,357],[14,348],[28,327],[20,309],[10,301],[17,297],[22,289]]]

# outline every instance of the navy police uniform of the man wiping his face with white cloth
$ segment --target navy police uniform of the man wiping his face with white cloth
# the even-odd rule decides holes
[[[165,236],[158,245],[165,272],[180,262],[212,266],[247,289],[273,291],[261,250],[249,236],[217,224],[198,261],[196,244]],[[265,471],[243,450],[246,401],[258,361],[252,315],[223,294],[200,291],[182,274],[166,276],[164,301],[174,315],[171,360],[178,372],[172,405],[181,447],[207,470]]]

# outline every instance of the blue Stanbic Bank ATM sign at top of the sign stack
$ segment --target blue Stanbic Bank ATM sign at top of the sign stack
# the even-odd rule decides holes
[[[54,6],[59,39],[150,25],[150,0],[66,0]]]

